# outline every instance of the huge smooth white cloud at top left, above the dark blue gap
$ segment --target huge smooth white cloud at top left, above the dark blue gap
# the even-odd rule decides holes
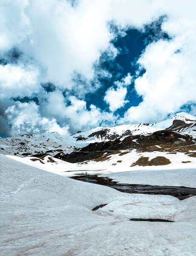
[[[110,33],[108,22],[114,20],[124,30],[130,25],[141,27],[155,16],[155,10],[145,6],[138,17],[142,3],[129,0],[79,0],[74,8],[62,0],[15,0],[14,4],[4,0],[0,35],[7,49],[17,44],[35,58],[48,80],[71,88],[73,72],[93,78],[100,52],[108,50],[115,57],[117,50],[110,41],[116,34]],[[0,44],[0,49],[5,46]]]

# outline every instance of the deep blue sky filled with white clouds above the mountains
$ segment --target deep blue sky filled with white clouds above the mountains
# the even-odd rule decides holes
[[[1,0],[0,136],[196,115],[194,0]]]

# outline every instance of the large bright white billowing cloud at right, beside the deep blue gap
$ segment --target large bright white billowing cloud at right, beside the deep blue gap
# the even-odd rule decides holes
[[[135,90],[143,101],[125,113],[124,121],[156,121],[176,113],[187,101],[195,101],[196,51],[193,38],[184,38],[181,33],[172,41],[150,44],[139,58],[138,63],[146,72],[135,80]]]

